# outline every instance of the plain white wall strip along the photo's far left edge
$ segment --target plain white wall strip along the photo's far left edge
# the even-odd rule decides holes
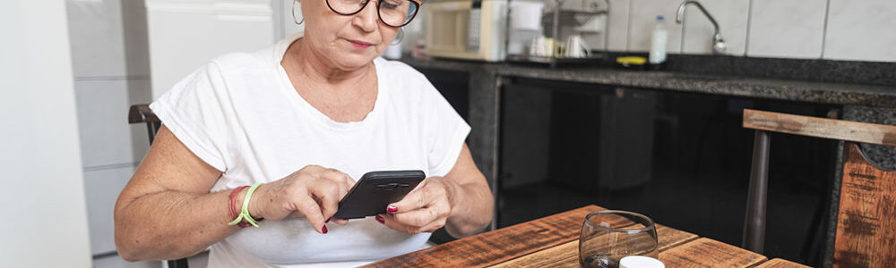
[[[6,267],[90,267],[62,0],[0,1]]]

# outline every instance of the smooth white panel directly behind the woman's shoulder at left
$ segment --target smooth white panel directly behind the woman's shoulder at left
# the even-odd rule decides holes
[[[276,1],[276,0],[274,0]],[[149,21],[152,96],[231,52],[271,46],[271,0],[145,0]]]

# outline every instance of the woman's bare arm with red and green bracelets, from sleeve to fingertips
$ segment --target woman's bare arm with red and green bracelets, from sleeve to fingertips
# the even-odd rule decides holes
[[[209,193],[220,175],[162,126],[150,152],[118,196],[118,255],[128,261],[182,258],[238,230],[227,224],[233,220],[228,207],[231,191]],[[258,187],[248,211],[255,219],[271,221],[304,217],[314,230],[325,234],[324,224],[336,214],[340,198],[354,184],[346,173],[308,165]],[[242,209],[245,195],[246,190],[237,195],[237,211]]]

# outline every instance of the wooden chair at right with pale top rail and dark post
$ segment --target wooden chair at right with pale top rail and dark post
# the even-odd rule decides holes
[[[756,130],[744,224],[746,249],[762,254],[769,133],[780,132],[846,141],[833,267],[896,265],[896,171],[886,171],[870,163],[857,144],[896,147],[896,126],[746,109],[744,128]]]

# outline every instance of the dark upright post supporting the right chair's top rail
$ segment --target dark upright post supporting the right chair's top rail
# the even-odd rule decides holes
[[[747,193],[743,247],[762,254],[765,246],[765,208],[769,182],[769,132],[756,130],[753,141],[753,167]]]

